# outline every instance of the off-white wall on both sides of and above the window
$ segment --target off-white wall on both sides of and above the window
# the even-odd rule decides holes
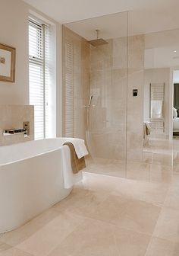
[[[52,111],[56,114],[53,125],[57,127],[57,135],[61,136],[61,24],[53,21],[22,0],[0,0],[0,43],[5,43],[16,48],[16,79],[14,83],[0,81],[0,104],[29,104],[29,65],[28,65],[28,17],[30,12],[55,24],[54,34],[56,52],[53,52],[53,61],[56,70],[54,72]],[[56,94],[56,98],[55,98]],[[56,108],[57,103],[57,110]],[[56,120],[57,119],[57,122]],[[54,128],[54,133],[56,129]],[[53,134],[54,135],[54,134]]]

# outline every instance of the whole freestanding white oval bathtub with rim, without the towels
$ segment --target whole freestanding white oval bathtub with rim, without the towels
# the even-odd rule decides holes
[[[42,139],[0,147],[0,233],[23,225],[70,194],[61,165],[65,141]]]

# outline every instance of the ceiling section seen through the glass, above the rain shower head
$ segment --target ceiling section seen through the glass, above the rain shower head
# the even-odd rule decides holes
[[[179,1],[178,1],[179,2]],[[96,29],[100,30],[99,37],[109,38],[126,37],[127,24],[129,35],[150,34],[153,32],[174,30],[179,28],[179,15],[177,11],[143,9],[108,14],[82,21],[65,24],[66,27],[79,34],[86,40],[96,39]]]

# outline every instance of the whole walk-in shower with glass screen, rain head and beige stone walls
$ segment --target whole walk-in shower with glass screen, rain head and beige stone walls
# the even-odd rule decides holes
[[[85,139],[101,171],[120,177],[143,154],[143,96],[131,93],[142,85],[143,37],[128,37],[127,24],[122,12],[63,26],[64,136]]]

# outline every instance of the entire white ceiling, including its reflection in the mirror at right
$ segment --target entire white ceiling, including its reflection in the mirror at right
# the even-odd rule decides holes
[[[96,29],[105,40],[126,37],[128,10],[129,35],[145,34],[145,68],[179,66],[179,0],[23,1],[86,40]]]

